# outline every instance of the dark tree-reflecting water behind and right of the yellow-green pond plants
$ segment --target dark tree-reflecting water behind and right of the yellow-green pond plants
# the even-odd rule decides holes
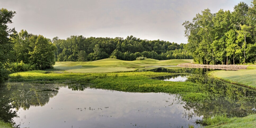
[[[255,90],[223,82],[206,74],[208,71],[219,69],[179,68],[177,66],[147,67],[140,71],[177,73],[154,79],[179,81],[181,77],[186,82],[193,82],[200,86],[198,91],[208,94],[209,100],[204,103],[187,102],[185,105],[185,108],[192,109],[196,116],[205,118],[214,114],[226,113],[228,116],[244,117],[250,113],[256,113]]]

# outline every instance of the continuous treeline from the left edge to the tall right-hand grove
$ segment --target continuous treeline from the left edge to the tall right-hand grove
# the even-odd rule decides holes
[[[136,58],[192,59],[184,50],[185,44],[168,41],[142,40],[133,36],[126,39],[85,38],[71,36],[67,39],[54,37],[52,40],[42,35],[34,35],[26,30],[19,33],[9,29],[15,11],[0,10],[0,82],[9,73],[48,69],[55,61],[94,61],[105,58],[136,60]]]

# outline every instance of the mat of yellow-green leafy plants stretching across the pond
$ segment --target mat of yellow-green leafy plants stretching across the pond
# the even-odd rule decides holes
[[[152,79],[173,73],[119,72],[119,73],[46,73],[36,70],[10,74],[10,82],[77,82],[90,87],[124,92],[165,92],[180,94],[184,101],[203,101],[207,94],[192,82],[170,82]]]

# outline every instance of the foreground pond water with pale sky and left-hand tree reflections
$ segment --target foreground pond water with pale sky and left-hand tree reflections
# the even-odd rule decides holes
[[[1,90],[1,106],[11,108],[1,116],[20,127],[187,127],[202,118],[164,93],[38,83],[9,83]]]

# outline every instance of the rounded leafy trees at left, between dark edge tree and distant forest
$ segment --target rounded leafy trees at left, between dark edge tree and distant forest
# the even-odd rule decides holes
[[[55,64],[57,47],[42,35],[28,34],[26,30],[21,30],[11,39],[14,43],[15,61],[35,65],[39,69],[51,68]],[[59,58],[63,59],[63,55],[59,55]]]

